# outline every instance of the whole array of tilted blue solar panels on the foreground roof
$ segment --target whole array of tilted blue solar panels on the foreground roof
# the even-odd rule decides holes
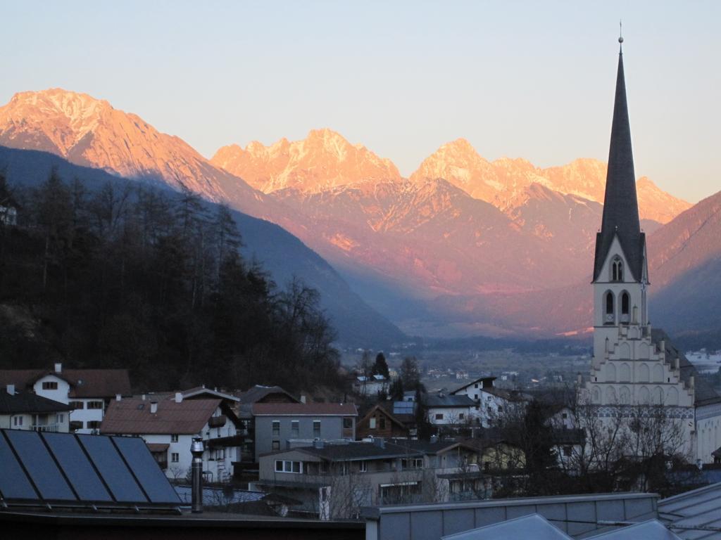
[[[175,490],[143,439],[0,430],[6,505],[175,508]]]

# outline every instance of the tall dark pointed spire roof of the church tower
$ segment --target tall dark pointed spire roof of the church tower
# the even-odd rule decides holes
[[[603,199],[603,219],[601,220],[601,232],[596,235],[594,281],[601,273],[603,261],[609,255],[609,249],[615,237],[619,238],[634,279],[640,281],[643,270],[645,235],[641,232],[638,217],[636,176],[624,79],[624,57],[620,52],[619,70],[616,75],[614,120],[611,125],[609,169],[606,174],[606,194]]]

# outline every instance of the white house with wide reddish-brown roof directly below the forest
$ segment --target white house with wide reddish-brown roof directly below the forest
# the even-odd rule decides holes
[[[116,396],[131,395],[127,369],[2,369],[0,387],[13,384],[21,392],[35,392],[70,405],[70,430],[97,433],[105,408]]]

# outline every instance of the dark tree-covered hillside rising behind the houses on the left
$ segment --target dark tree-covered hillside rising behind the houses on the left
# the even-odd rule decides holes
[[[141,391],[337,382],[319,294],[244,261],[226,207],[57,171],[0,177],[0,201],[18,208],[0,222],[1,367],[126,367]]]

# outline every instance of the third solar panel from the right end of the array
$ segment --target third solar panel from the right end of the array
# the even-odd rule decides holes
[[[43,433],[43,438],[81,500],[112,501],[110,493],[102,485],[102,480],[74,436]]]

